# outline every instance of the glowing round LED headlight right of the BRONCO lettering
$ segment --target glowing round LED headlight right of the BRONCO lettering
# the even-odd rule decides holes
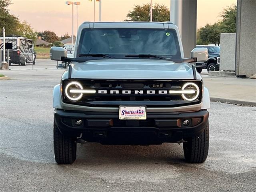
[[[185,83],[182,90],[192,91],[191,93],[183,93],[182,98],[187,101],[194,101],[198,98],[200,89],[195,83]]]

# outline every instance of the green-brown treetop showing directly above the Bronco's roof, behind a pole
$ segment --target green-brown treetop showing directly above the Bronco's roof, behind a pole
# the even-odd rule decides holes
[[[150,21],[150,4],[135,5],[127,14],[125,21]],[[152,8],[152,20],[164,22],[170,20],[170,10],[165,5],[156,3]]]

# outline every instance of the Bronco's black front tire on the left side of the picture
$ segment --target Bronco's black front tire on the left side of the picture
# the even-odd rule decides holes
[[[55,123],[53,144],[55,161],[58,164],[71,164],[76,160],[76,142],[72,138],[64,136]]]

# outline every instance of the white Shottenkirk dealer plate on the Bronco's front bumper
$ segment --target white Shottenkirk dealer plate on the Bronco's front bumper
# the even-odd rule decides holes
[[[119,119],[143,120],[146,118],[146,106],[119,106]]]

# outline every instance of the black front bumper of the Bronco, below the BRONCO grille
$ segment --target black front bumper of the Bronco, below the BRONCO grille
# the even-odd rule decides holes
[[[207,110],[148,112],[146,120],[119,120],[118,112],[55,110],[54,122],[66,136],[102,144],[162,144],[200,135],[208,124]],[[188,119],[188,126],[182,120]],[[82,120],[76,126],[75,121]]]

